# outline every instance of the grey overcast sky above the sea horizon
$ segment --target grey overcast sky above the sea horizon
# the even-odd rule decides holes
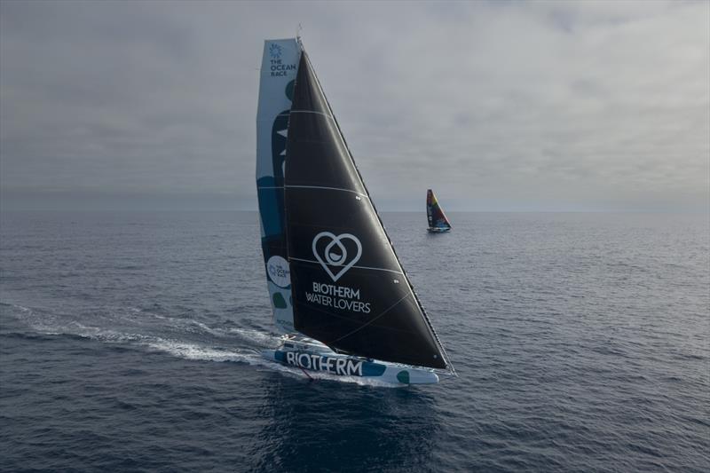
[[[256,209],[263,41],[299,23],[379,209],[708,208],[707,1],[2,0],[3,208]]]

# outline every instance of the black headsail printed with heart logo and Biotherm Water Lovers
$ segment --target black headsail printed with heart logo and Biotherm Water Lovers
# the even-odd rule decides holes
[[[294,327],[335,351],[452,370],[302,51],[285,172]]]

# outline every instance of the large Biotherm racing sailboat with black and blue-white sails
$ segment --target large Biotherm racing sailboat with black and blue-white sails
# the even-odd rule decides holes
[[[399,384],[455,374],[300,38],[264,43],[256,122],[262,250],[283,334],[264,358]]]

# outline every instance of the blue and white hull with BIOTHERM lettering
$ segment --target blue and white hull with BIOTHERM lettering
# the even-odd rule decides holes
[[[438,382],[438,375],[426,368],[406,367],[383,361],[350,357],[338,353],[264,350],[265,359],[276,361],[286,366],[304,370],[335,374],[337,376],[355,376],[392,384],[433,384]]]

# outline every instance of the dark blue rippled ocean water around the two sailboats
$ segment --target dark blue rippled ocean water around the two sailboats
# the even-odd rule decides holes
[[[707,471],[706,215],[383,221],[460,377],[261,359],[256,213],[5,213],[0,470]]]

